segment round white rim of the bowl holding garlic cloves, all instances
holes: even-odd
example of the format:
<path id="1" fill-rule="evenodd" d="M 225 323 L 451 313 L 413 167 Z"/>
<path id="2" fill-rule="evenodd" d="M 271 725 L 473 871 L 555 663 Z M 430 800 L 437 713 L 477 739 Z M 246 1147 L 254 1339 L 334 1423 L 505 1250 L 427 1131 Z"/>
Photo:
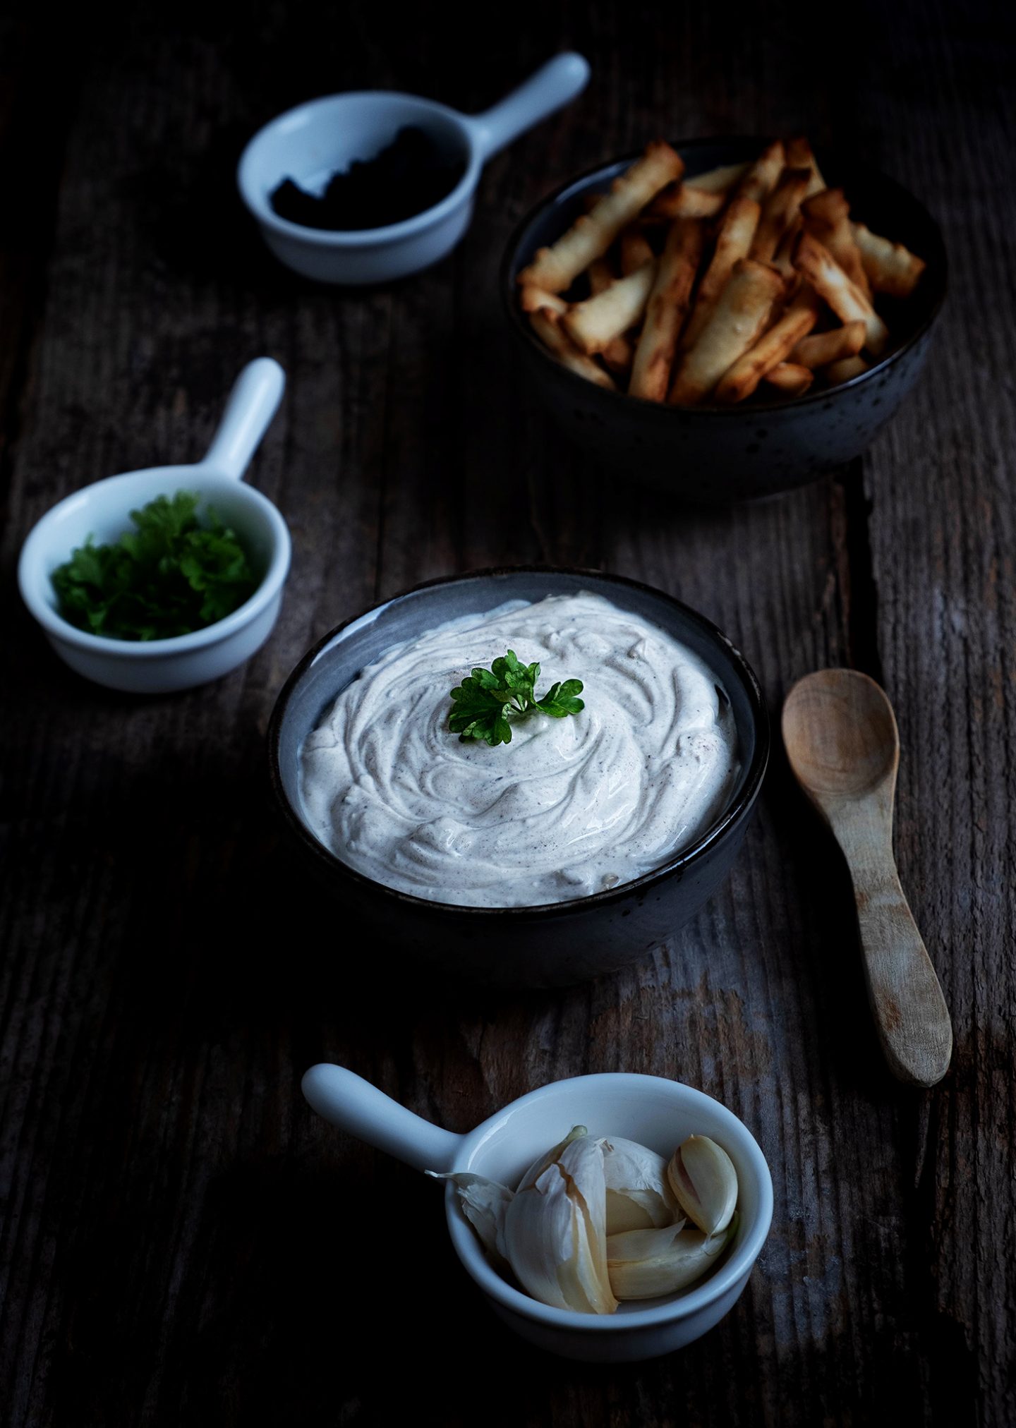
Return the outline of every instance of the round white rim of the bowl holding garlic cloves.
<path id="1" fill-rule="evenodd" d="M 723 1104 L 723 1101 L 709 1095 L 706 1091 L 700 1091 L 697 1087 L 687 1085 L 684 1081 L 672 1080 L 670 1077 L 646 1075 L 636 1071 L 594 1071 L 587 1075 L 564 1077 L 560 1081 L 549 1081 L 546 1085 L 537 1087 L 526 1095 L 520 1095 L 516 1101 L 510 1101 L 499 1112 L 483 1121 L 482 1125 L 477 1125 L 474 1131 L 469 1132 L 464 1137 L 464 1158 L 472 1162 L 476 1151 L 486 1138 L 486 1134 L 494 1128 L 496 1122 L 507 1111 L 514 1111 L 517 1107 L 526 1105 L 527 1102 L 532 1104 L 544 1100 L 556 1087 L 584 1082 L 589 1091 L 594 1092 L 597 1084 L 612 1081 L 616 1077 L 622 1077 L 624 1081 L 630 1082 L 633 1090 L 637 1087 L 637 1082 L 664 1082 L 672 1088 L 674 1100 L 684 1104 L 689 1101 L 693 1105 L 702 1101 L 710 1102 L 712 1114 L 717 1114 L 719 1111 L 720 1118 L 730 1127 L 732 1138 L 736 1138 L 737 1141 L 737 1150 L 743 1152 L 752 1165 L 759 1188 L 759 1210 L 752 1225 L 744 1232 L 743 1242 L 734 1244 L 730 1252 L 726 1254 L 723 1264 L 720 1264 L 700 1285 L 690 1288 L 689 1292 L 680 1299 L 670 1299 L 666 1304 L 656 1304 L 646 1309 L 629 1309 L 620 1317 L 614 1314 L 579 1314 L 573 1309 L 557 1309 L 553 1305 L 542 1304 L 539 1299 L 526 1294 L 524 1289 L 514 1288 L 514 1285 L 509 1284 L 509 1281 L 493 1268 L 484 1257 L 473 1230 L 469 1227 L 469 1222 L 457 1207 L 454 1185 L 447 1181 L 444 1214 L 449 1227 L 449 1237 L 466 1272 L 486 1295 L 497 1299 L 497 1302 L 506 1309 L 510 1309 L 523 1318 L 533 1319 L 549 1329 L 563 1329 L 570 1332 L 579 1331 L 584 1334 L 624 1334 L 690 1318 L 702 1309 L 709 1308 L 716 1302 L 716 1299 L 722 1298 L 730 1288 L 733 1288 L 742 1277 L 750 1274 L 772 1227 L 773 1177 L 769 1168 L 769 1161 L 766 1160 L 762 1147 L 756 1141 L 752 1131 L 747 1125 L 744 1125 L 742 1118 L 730 1110 L 730 1107 Z"/>

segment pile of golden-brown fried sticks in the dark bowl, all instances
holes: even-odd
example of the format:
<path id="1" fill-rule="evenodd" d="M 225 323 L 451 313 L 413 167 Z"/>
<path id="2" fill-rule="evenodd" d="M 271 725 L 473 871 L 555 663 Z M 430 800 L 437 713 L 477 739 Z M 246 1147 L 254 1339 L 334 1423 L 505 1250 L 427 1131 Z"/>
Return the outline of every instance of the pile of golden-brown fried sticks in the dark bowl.
<path id="1" fill-rule="evenodd" d="M 875 297 L 925 270 L 850 217 L 806 139 L 684 177 L 649 144 L 519 274 L 533 331 L 563 366 L 672 406 L 800 397 L 867 371 L 889 344 Z"/>

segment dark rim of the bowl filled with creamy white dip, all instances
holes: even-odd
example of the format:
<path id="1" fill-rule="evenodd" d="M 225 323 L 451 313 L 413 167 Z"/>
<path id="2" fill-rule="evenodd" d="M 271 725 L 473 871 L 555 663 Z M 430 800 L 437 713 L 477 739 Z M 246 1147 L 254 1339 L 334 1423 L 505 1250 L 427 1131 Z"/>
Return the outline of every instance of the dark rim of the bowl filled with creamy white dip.
<path id="1" fill-rule="evenodd" d="M 367 617 L 377 617 L 389 605 L 397 601 L 412 600 L 413 595 L 424 590 L 432 590 L 436 585 L 452 585 L 464 581 L 483 581 L 500 575 L 517 575 L 517 574 L 533 574 L 533 575 L 572 575 L 572 577 L 587 577 L 589 580 L 606 581 L 609 585 L 623 585 L 630 590 L 639 590 L 646 594 L 654 595 L 669 601 L 676 605 L 679 611 L 687 617 L 716 644 L 719 644 L 727 654 L 733 668 L 736 670 L 742 687 L 749 700 L 749 708 L 752 714 L 752 723 L 754 727 L 754 751 L 747 768 L 743 773 L 739 788 L 732 795 L 730 801 L 724 807 L 723 813 L 719 814 L 713 823 L 683 851 L 670 857 L 666 863 L 660 864 L 657 868 L 650 868 L 649 873 L 640 874 L 637 878 L 632 878 L 627 883 L 620 883 L 616 887 L 604 888 L 600 892 L 587 892 L 583 897 L 567 898 L 562 902 L 534 902 L 527 905 L 516 907 L 474 907 L 463 902 L 440 902 L 434 898 L 417 897 L 413 892 L 404 892 L 402 888 L 389 887 L 386 883 L 379 883 L 376 878 L 367 877 L 360 873 L 359 868 L 352 867 L 344 863 L 337 854 L 332 853 L 303 823 L 299 817 L 290 800 L 286 794 L 286 788 L 282 778 L 282 763 L 280 763 L 280 747 L 282 747 L 282 728 L 286 718 L 286 711 L 289 708 L 290 700 L 297 690 L 297 685 L 303 680 L 304 674 L 316 663 L 322 651 L 337 640 L 350 625 L 366 620 Z M 717 674 L 716 670 L 712 670 Z M 342 691 L 336 690 L 332 698 L 334 700 Z M 272 783 L 272 791 L 274 794 L 276 803 L 283 814 L 283 820 L 290 830 L 296 834 L 299 843 L 314 855 L 320 865 L 327 867 L 332 871 L 339 871 L 353 881 L 354 885 L 380 892 L 396 902 L 413 908 L 423 914 L 437 915 L 463 915 L 472 917 L 474 920 L 484 918 L 500 918 L 510 917 L 513 921 L 543 921 L 547 917 L 572 917 L 587 911 L 594 907 L 606 907 L 613 902 L 623 901 L 632 895 L 636 890 L 647 890 L 656 887 L 664 878 L 672 877 L 674 873 L 682 873 L 684 868 L 694 863 L 699 863 L 702 857 L 713 850 L 713 847 L 720 843 L 720 840 L 737 827 L 750 813 L 754 800 L 762 787 L 762 780 L 766 774 L 766 767 L 769 764 L 769 753 L 772 744 L 772 731 L 769 721 L 769 710 L 759 684 L 759 678 L 747 663 L 740 650 L 733 644 L 723 631 L 707 620 L 706 615 L 693 610 L 692 605 L 686 605 L 676 595 L 667 594 L 664 590 L 659 590 L 656 585 L 649 585 L 646 581 L 633 580 L 630 575 L 614 575 L 602 570 L 589 570 L 582 565 L 539 565 L 539 564 L 522 564 L 522 565 L 493 565 L 482 570 L 466 570 L 456 575 L 437 575 L 433 580 L 423 580 L 409 590 L 397 591 L 387 600 L 382 600 L 374 605 L 367 607 L 367 610 L 352 615 L 349 620 L 343 620 L 333 630 L 329 630 L 320 640 L 312 645 L 310 650 L 303 655 L 303 658 L 292 670 L 289 678 L 283 684 L 279 695 L 276 698 L 274 707 L 272 710 L 272 717 L 269 720 L 269 777 Z"/>

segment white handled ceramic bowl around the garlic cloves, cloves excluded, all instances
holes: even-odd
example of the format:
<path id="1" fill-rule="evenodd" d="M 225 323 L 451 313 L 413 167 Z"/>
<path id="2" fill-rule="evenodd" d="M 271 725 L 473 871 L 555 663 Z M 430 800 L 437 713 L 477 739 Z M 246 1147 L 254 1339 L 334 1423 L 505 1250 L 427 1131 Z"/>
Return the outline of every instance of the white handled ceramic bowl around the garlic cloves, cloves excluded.
<path id="1" fill-rule="evenodd" d="M 700 1338 L 740 1297 L 769 1234 L 773 1182 L 754 1137 L 733 1111 L 679 1081 L 624 1071 L 552 1081 L 467 1135 L 432 1125 L 344 1067 L 312 1067 L 303 1094 L 333 1125 L 414 1170 L 473 1171 L 512 1187 L 573 1125 L 586 1125 L 592 1135 L 623 1135 L 667 1158 L 689 1135 L 709 1135 L 723 1147 L 737 1171 L 740 1221 L 719 1267 L 687 1289 L 626 1302 L 609 1315 L 554 1309 L 509 1284 L 487 1261 L 454 1187 L 446 1185 L 452 1244 L 494 1314 L 530 1344 L 564 1358 L 627 1362 Z"/>

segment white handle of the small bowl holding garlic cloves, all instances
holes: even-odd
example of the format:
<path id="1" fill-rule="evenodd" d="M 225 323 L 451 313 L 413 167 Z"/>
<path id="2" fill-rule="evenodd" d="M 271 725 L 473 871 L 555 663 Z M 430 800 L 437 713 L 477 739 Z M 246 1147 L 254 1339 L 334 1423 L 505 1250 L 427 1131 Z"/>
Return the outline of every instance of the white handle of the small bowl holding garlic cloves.
<path id="1" fill-rule="evenodd" d="M 312 1067 L 303 1094 L 326 1121 L 413 1170 L 454 1170 L 464 1137 L 414 1115 L 346 1067 L 326 1061 Z"/>

